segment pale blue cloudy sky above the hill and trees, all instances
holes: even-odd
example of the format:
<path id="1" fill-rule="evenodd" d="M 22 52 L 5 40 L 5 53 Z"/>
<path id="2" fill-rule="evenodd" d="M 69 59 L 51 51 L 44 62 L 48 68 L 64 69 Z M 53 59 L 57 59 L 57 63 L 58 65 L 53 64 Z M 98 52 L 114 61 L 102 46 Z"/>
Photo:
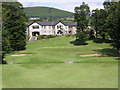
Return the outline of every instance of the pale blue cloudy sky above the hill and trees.
<path id="1" fill-rule="evenodd" d="M 82 2 L 89 5 L 90 10 L 102 9 L 104 0 L 18 0 L 24 7 L 46 6 L 74 12 L 74 7 Z"/>

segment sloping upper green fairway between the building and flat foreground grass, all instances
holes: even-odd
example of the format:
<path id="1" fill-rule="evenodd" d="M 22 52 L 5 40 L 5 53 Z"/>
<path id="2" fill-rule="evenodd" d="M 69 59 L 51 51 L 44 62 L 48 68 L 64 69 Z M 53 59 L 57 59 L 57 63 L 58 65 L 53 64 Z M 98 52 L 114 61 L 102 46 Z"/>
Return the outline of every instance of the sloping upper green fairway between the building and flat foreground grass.
<path id="1" fill-rule="evenodd" d="M 8 55 L 6 61 L 17 64 L 39 64 L 39 63 L 64 63 L 64 61 L 81 62 L 116 62 L 114 57 L 80 57 L 80 55 L 98 53 L 94 50 L 110 48 L 109 44 L 96 44 L 88 41 L 88 45 L 75 46 L 70 44 L 73 37 L 62 37 L 48 40 L 29 42 L 27 50 L 15 54 L 32 54 L 32 56 L 11 57 Z"/>

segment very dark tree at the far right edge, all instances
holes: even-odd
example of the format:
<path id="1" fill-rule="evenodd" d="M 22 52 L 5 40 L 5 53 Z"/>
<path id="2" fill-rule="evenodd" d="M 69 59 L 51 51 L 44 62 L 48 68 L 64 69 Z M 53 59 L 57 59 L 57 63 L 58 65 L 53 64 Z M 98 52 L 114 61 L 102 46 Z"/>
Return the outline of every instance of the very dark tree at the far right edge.
<path id="1" fill-rule="evenodd" d="M 109 2 L 109 7 L 105 8 L 109 15 L 106 19 L 108 34 L 112 39 L 112 46 L 118 51 L 120 56 L 120 2 Z M 107 6 L 104 3 L 105 6 Z"/>

